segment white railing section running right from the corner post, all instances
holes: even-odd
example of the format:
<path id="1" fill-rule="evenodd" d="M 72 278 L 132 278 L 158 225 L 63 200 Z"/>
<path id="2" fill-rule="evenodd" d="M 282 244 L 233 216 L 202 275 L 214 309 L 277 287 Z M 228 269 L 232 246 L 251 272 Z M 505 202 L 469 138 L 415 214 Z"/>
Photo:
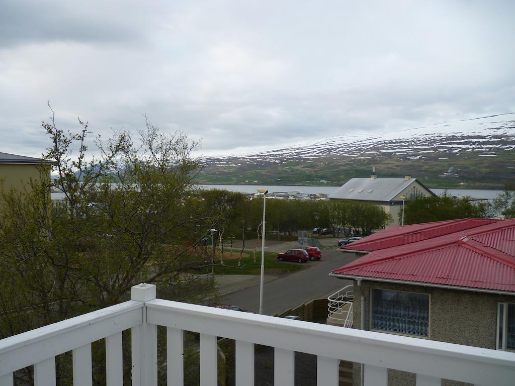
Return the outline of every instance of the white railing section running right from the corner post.
<path id="1" fill-rule="evenodd" d="M 364 363 L 365 385 L 386 385 L 387 369 L 416 373 L 417 384 L 423 385 L 440 385 L 442 378 L 481 385 L 511 385 L 515 379 L 513 353 L 338 326 L 315 327 L 310 322 L 161 299 L 149 301 L 146 306 L 147 322 L 166 326 L 169 336 L 178 337 L 182 330 L 200 333 L 201 384 L 202 372 L 216 379 L 216 337 L 236 340 L 236 379 L 239 372 L 246 382 L 251 380 L 242 372 L 253 369 L 252 344 L 275 347 L 276 384 L 289 386 L 294 384 L 296 351 L 318 356 L 320 385 L 337 384 L 339 359 Z M 246 354 L 239 356 L 238 347 Z M 207 353 L 202 354 L 203 349 Z M 178 352 L 169 355 L 179 360 Z M 277 383 L 277 379 L 281 381 Z M 253 384 L 253 380 L 239 384 Z"/>

